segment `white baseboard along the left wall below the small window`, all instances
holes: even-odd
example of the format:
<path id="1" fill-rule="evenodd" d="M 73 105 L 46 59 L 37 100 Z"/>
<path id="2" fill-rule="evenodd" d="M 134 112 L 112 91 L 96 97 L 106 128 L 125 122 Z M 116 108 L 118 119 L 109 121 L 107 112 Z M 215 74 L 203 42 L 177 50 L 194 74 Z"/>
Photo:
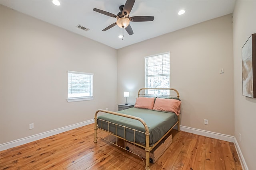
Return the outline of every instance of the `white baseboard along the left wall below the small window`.
<path id="1" fill-rule="evenodd" d="M 8 142 L 8 143 L 3 143 L 3 144 L 0 144 L 0 151 L 10 149 L 10 148 L 13 148 L 13 147 L 17 147 L 17 146 L 20 146 L 20 145 L 24 145 L 26 143 L 37 141 L 39 139 L 50 137 L 52 135 L 56 135 L 56 134 L 59 134 L 59 133 L 62 133 L 62 132 L 70 131 L 72 129 L 76 129 L 78 127 L 82 127 L 82 126 L 89 125 L 89 124 L 92 124 L 92 123 L 94 123 L 94 119 L 91 119 L 91 120 L 88 120 L 88 121 L 83 121 L 83 122 L 76 123 L 74 125 L 69 125 L 69 126 L 66 126 L 66 127 L 61 127 L 61 128 L 58 128 L 58 129 L 54 129 L 52 131 L 39 133 L 39 134 L 32 135 L 32 136 L 29 136 L 29 137 L 24 137 L 22 139 L 17 139 L 15 141 L 11 141 L 11 142 Z"/>

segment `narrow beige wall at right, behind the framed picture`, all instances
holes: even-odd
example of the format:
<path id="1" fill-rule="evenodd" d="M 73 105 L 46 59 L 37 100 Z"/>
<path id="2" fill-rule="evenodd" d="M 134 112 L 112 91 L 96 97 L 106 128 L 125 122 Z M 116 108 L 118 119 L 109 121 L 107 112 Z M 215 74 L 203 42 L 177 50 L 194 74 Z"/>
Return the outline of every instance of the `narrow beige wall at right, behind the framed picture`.
<path id="1" fill-rule="evenodd" d="M 233 18 L 234 39 L 234 136 L 242 150 L 249 170 L 256 167 L 256 99 L 242 96 L 241 49 L 252 33 L 256 33 L 256 1 L 236 1 Z M 239 140 L 241 134 L 241 141 Z"/>

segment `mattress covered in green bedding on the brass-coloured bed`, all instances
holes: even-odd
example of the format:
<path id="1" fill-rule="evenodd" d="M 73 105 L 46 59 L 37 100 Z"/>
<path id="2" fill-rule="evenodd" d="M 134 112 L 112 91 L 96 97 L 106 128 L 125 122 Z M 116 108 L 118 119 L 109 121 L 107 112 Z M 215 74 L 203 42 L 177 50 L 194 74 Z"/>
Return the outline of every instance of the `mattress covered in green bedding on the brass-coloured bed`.
<path id="1" fill-rule="evenodd" d="M 154 145 L 154 143 L 156 143 L 178 121 L 178 116 L 175 113 L 151 109 L 132 107 L 118 111 L 118 113 L 142 118 L 148 125 L 150 145 Z M 105 121 L 101 121 L 100 119 Z M 124 138 L 124 127 L 117 126 L 116 128 L 116 125 L 106 121 L 145 132 L 143 124 L 138 120 L 112 114 L 98 116 L 98 127 L 110 131 L 113 134 L 117 133 L 117 135 L 122 138 Z M 135 132 L 135 142 L 145 145 L 145 134 L 138 131 Z M 125 139 L 134 142 L 134 131 L 126 128 Z"/>

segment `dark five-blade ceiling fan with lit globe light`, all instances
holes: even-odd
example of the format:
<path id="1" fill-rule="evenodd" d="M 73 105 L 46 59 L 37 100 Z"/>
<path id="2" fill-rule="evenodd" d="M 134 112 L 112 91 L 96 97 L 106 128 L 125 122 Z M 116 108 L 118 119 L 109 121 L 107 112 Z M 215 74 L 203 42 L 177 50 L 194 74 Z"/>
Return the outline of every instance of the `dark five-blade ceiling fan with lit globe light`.
<path id="1" fill-rule="evenodd" d="M 135 0 L 126 0 L 126 3 L 124 5 L 119 6 L 120 12 L 118 12 L 117 15 L 111 14 L 110 12 L 106 12 L 103 10 L 99 10 L 97 8 L 93 8 L 94 11 L 99 12 L 100 14 L 104 14 L 106 16 L 110 16 L 113 18 L 116 18 L 117 21 L 115 23 L 112 23 L 108 27 L 104 28 L 102 31 L 106 31 L 115 25 L 118 25 L 120 28 L 125 28 L 129 35 L 133 34 L 132 27 L 129 24 L 130 21 L 132 22 L 142 22 L 142 21 L 153 21 L 154 16 L 134 16 L 130 17 L 130 12 L 132 10 L 132 7 L 134 5 Z"/>

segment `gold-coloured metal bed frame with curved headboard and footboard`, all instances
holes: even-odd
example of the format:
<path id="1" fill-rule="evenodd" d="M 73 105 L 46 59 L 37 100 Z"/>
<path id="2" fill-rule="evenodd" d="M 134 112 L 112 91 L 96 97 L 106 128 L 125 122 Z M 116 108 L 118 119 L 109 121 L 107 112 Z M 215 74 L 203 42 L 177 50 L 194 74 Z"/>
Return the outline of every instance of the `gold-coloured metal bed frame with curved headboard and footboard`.
<path id="1" fill-rule="evenodd" d="M 142 90 L 144 90 L 144 94 L 141 94 L 141 91 L 142 91 Z M 174 88 L 141 88 L 141 89 L 138 91 L 138 97 L 142 97 L 142 96 L 150 96 L 150 97 L 171 97 L 171 96 L 173 96 L 173 95 L 145 94 L 145 91 L 146 91 L 146 90 L 170 90 L 170 94 L 171 94 L 171 90 L 173 90 L 173 91 L 175 91 L 176 94 L 177 94 L 177 95 L 175 95 L 175 97 L 178 98 L 178 99 L 180 98 L 179 92 L 178 92 L 176 89 L 174 89 Z M 97 118 L 97 115 L 98 115 L 99 112 L 104 112 L 104 113 L 113 114 L 113 115 L 119 115 L 119 116 L 128 117 L 128 118 L 131 118 L 131 119 L 138 120 L 138 121 L 140 121 L 140 122 L 142 123 L 142 125 L 144 126 L 145 132 L 141 132 L 141 131 L 138 131 L 138 130 L 136 130 L 136 129 L 132 129 L 132 130 L 134 131 L 134 141 L 133 141 L 133 142 L 132 142 L 132 141 L 128 141 L 128 140 L 125 139 L 125 138 L 126 138 L 125 132 L 126 132 L 126 129 L 131 129 L 131 128 L 125 127 L 125 126 L 122 126 L 122 125 L 118 125 L 118 124 L 116 124 L 116 123 L 112 123 L 112 122 L 109 122 L 109 121 L 105 121 L 105 120 L 102 120 L 102 119 L 98 119 L 98 118 Z M 101 123 L 103 123 L 103 121 L 107 122 L 107 123 L 108 123 L 108 130 L 105 130 L 105 129 L 100 128 L 100 127 L 97 125 L 97 120 L 100 120 Z M 115 126 L 116 126 L 116 129 L 117 129 L 117 126 L 123 127 L 123 128 L 124 128 L 124 138 L 123 138 L 123 137 L 120 137 L 120 136 L 118 136 L 118 135 L 116 135 L 117 133 L 114 134 L 114 133 L 110 132 L 110 131 L 109 131 L 109 125 L 110 125 L 110 124 L 115 125 Z M 105 141 L 108 141 L 108 142 L 110 142 L 110 143 L 112 143 L 112 144 L 114 144 L 114 145 L 116 145 L 116 146 L 118 146 L 118 147 L 121 147 L 121 146 L 117 145 L 117 139 L 118 139 L 118 138 L 119 138 L 119 139 L 123 139 L 123 140 L 124 140 L 124 147 L 121 147 L 121 148 L 124 149 L 124 150 L 128 150 L 128 149 L 126 148 L 126 142 L 129 142 L 129 143 L 134 144 L 134 152 L 132 152 L 133 154 L 136 154 L 136 152 L 135 152 L 135 146 L 142 147 L 142 148 L 145 149 L 145 152 L 146 152 L 146 167 L 145 167 L 145 169 L 146 169 L 146 170 L 150 170 L 150 156 L 149 156 L 150 151 L 151 151 L 154 147 L 156 147 L 156 145 L 157 145 L 158 143 L 160 143 L 160 141 L 162 141 L 162 139 L 164 139 L 164 137 L 165 137 L 166 135 L 168 135 L 168 133 L 170 133 L 170 131 L 171 131 L 176 125 L 178 125 L 178 131 L 180 131 L 180 116 L 179 116 L 179 115 L 178 115 L 178 121 L 164 134 L 164 136 L 162 136 L 161 139 L 159 139 L 156 143 L 154 143 L 153 146 L 150 146 L 150 145 L 149 145 L 149 129 L 148 129 L 148 126 L 147 126 L 146 122 L 145 122 L 143 119 L 141 119 L 140 117 L 132 116 L 132 115 L 126 115 L 126 114 L 122 114 L 122 113 L 118 113 L 118 112 L 114 112 L 114 111 L 108 111 L 108 110 L 99 109 L 99 110 L 96 111 L 96 113 L 95 113 L 95 115 L 94 115 L 94 143 L 97 143 L 97 139 L 98 139 L 98 137 L 97 137 L 97 130 L 100 129 L 100 130 L 101 130 L 101 134 L 102 134 L 103 131 L 105 131 L 105 132 L 107 132 L 108 134 L 113 135 L 114 137 L 116 137 L 116 142 L 113 143 L 112 141 L 109 140 L 109 138 L 108 138 L 108 139 L 103 138 L 102 135 L 101 135 L 101 137 L 99 137 L 99 138 L 101 138 L 101 139 L 103 139 L 103 140 L 105 140 Z M 102 127 L 102 126 L 101 126 L 101 127 Z M 116 132 L 117 132 L 117 130 L 116 130 Z M 140 132 L 140 133 L 144 133 L 144 134 L 145 134 L 145 137 L 146 137 L 146 145 L 145 145 L 145 146 L 144 146 L 144 145 L 141 145 L 140 143 L 136 143 L 136 141 L 135 141 L 135 132 Z M 128 150 L 128 151 L 131 152 L 130 150 Z M 140 155 L 138 155 L 138 154 L 136 154 L 136 155 L 139 156 L 139 157 L 142 159 L 142 161 L 144 162 L 143 158 L 142 158 Z"/>

